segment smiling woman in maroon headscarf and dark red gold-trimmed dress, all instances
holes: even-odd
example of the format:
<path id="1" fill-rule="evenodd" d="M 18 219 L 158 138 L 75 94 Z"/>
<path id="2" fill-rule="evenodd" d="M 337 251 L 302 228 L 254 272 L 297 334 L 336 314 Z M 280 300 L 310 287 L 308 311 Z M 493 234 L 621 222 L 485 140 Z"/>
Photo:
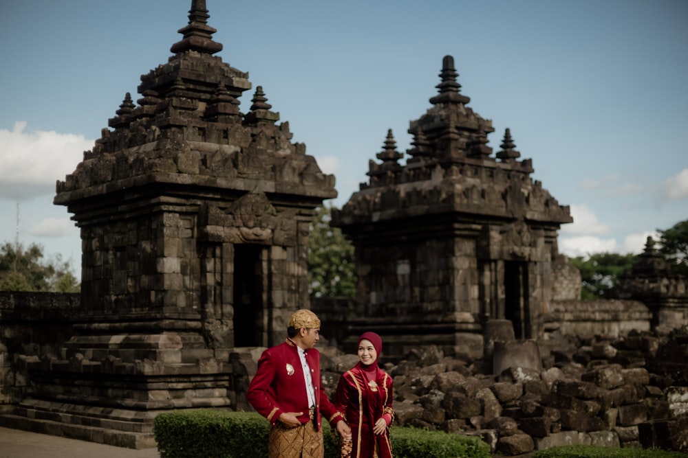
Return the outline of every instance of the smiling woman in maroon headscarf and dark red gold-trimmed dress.
<path id="1" fill-rule="evenodd" d="M 391 458 L 389 425 L 394 420 L 391 408 L 391 377 L 378 367 L 383 339 L 374 332 L 358 338 L 358 363 L 339 378 L 334 405 L 351 427 L 352 440 L 344 439 L 342 456 L 352 458 Z M 347 449 L 351 454 L 347 455 Z"/>

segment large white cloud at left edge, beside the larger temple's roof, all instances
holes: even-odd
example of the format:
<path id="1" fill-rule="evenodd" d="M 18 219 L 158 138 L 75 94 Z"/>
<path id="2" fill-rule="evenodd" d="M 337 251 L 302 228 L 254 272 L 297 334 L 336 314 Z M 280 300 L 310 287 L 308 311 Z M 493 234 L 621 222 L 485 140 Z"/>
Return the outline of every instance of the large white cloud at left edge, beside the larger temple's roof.
<path id="1" fill-rule="evenodd" d="M 0 198 L 24 201 L 54 193 L 55 182 L 74 172 L 94 145 L 83 135 L 25 128 L 20 121 L 11 131 L 0 129 Z"/>

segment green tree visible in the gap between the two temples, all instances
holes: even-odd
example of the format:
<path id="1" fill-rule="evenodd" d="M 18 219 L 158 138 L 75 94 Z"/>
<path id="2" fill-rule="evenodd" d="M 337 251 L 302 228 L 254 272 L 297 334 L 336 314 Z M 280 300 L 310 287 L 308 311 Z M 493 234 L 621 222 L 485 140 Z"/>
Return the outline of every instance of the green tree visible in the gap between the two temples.
<path id="1" fill-rule="evenodd" d="M 308 238 L 308 284 L 315 297 L 356 297 L 354 246 L 330 227 L 332 207 L 320 207 Z"/>

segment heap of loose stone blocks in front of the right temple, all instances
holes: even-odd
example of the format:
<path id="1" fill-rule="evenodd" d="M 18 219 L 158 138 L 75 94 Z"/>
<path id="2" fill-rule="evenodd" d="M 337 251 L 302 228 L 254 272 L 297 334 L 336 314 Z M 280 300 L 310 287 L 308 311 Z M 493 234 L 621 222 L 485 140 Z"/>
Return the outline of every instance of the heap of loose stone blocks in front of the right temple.
<path id="1" fill-rule="evenodd" d="M 542 371 L 509 367 L 496 375 L 481 360 L 424 347 L 387 365 L 394 376 L 395 421 L 477 435 L 503 455 L 563 444 L 688 450 L 688 383 L 676 378 L 676 368 L 672 375 L 646 367 L 667 346 L 681 347 L 687 360 L 682 339 L 631 333 L 582 341 L 575 352 L 547 355 Z M 338 374 L 356 358 L 324 361 L 332 393 Z"/>

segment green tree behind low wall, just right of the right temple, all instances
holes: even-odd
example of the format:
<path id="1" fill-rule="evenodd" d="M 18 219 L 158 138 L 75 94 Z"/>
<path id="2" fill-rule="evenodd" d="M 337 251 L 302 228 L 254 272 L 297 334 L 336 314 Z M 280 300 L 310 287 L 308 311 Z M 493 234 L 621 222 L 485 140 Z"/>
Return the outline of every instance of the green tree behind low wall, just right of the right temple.
<path id="1" fill-rule="evenodd" d="M 571 264 L 581 271 L 583 280 L 582 299 L 603 299 L 626 269 L 631 268 L 636 255 L 619 253 L 594 253 L 588 259 L 582 256 L 570 258 Z"/>

